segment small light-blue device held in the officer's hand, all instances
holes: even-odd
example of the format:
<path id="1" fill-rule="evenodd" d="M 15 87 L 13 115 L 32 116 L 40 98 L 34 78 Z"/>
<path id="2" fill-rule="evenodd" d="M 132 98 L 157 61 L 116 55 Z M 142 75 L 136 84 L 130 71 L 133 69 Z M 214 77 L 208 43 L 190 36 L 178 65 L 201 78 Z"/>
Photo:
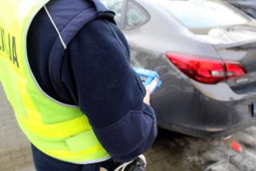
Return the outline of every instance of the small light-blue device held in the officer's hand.
<path id="1" fill-rule="evenodd" d="M 143 85 L 145 87 L 150 87 L 151 93 L 162 85 L 162 82 L 159 80 L 158 72 L 136 67 L 134 67 L 134 71 L 138 74 L 139 78 L 141 78 Z"/>

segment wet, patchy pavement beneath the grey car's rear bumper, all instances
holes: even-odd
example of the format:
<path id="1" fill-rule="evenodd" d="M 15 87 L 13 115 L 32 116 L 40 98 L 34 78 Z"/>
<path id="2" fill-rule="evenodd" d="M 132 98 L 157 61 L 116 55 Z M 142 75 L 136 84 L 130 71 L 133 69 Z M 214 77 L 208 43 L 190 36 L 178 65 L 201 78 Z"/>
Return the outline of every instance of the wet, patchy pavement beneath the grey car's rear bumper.
<path id="1" fill-rule="evenodd" d="M 242 146 L 242 153 L 230 148 L 222 138 L 199 139 L 159 130 L 153 147 L 146 153 L 148 171 L 254 171 L 256 170 L 256 127 L 231 137 Z"/>

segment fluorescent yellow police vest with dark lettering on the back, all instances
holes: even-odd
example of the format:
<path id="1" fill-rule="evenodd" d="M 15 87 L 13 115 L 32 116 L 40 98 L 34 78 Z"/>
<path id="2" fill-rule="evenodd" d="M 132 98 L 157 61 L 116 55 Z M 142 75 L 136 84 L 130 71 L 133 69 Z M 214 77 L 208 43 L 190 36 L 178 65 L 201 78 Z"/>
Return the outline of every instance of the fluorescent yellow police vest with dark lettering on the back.
<path id="1" fill-rule="evenodd" d="M 42 152 L 62 161 L 94 163 L 110 158 L 78 107 L 54 101 L 34 81 L 26 37 L 49 0 L 0 0 L 0 81 L 18 125 Z"/>

